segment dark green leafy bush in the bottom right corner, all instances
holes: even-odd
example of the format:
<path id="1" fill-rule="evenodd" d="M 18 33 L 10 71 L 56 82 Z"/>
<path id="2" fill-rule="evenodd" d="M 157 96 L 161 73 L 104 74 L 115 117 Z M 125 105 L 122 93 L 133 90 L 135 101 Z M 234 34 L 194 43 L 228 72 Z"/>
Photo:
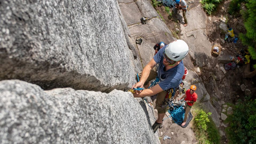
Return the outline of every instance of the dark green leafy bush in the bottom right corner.
<path id="1" fill-rule="evenodd" d="M 227 118 L 230 127 L 227 128 L 231 143 L 256 143 L 256 99 L 246 97 L 239 101 L 233 110 L 233 115 Z"/>

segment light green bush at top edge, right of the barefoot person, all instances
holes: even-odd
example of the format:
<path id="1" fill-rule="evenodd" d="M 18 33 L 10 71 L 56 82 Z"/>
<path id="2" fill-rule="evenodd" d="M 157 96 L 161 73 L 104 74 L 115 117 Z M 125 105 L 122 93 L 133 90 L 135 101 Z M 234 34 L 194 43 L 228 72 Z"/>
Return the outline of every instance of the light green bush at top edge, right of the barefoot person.
<path id="1" fill-rule="evenodd" d="M 217 5 L 221 2 L 222 0 L 202 0 L 200 3 L 202 4 L 203 9 L 205 9 L 206 13 L 211 15 L 211 12 L 215 10 Z"/>

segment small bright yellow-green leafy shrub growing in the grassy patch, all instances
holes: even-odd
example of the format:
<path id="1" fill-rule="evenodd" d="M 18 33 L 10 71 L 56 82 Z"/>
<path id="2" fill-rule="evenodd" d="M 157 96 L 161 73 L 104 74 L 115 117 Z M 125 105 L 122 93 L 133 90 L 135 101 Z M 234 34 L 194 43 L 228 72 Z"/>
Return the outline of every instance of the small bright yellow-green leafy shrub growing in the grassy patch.
<path id="1" fill-rule="evenodd" d="M 195 123 L 198 129 L 201 129 L 201 131 L 206 130 L 207 125 L 206 122 L 210 122 L 208 115 L 211 115 L 211 113 L 205 113 L 202 109 L 196 111 L 197 115 L 195 116 Z"/>

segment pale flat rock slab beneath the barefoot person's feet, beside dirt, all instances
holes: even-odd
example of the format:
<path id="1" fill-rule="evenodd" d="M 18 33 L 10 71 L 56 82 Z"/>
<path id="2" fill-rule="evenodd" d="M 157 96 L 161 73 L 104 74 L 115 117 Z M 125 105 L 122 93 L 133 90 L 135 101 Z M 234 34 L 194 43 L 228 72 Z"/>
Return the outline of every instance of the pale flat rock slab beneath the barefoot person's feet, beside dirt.
<path id="1" fill-rule="evenodd" d="M 195 60 L 196 64 L 203 67 L 210 62 L 212 44 L 206 35 L 207 16 L 199 3 L 195 3 L 195 5 L 197 6 L 190 7 L 186 14 L 189 26 L 184 27 L 184 22 L 181 22 L 181 34 L 183 34 L 181 39 L 189 45 L 189 55 Z M 179 15 L 179 18 L 183 18 L 182 11 Z"/>

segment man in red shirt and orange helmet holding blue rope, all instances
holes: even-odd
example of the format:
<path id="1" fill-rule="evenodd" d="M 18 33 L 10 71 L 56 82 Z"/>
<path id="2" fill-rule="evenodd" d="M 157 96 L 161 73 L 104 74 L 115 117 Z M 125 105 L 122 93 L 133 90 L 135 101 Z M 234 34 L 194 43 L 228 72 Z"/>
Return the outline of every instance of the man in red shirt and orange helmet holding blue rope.
<path id="1" fill-rule="evenodd" d="M 184 121 L 181 124 L 182 126 L 186 124 L 189 111 L 191 107 L 194 105 L 194 103 L 197 101 L 197 94 L 195 93 L 196 89 L 197 87 L 195 85 L 192 85 L 190 89 L 186 91 L 186 94 L 184 94 L 181 98 L 178 99 L 178 101 L 180 101 L 181 99 L 185 98 L 185 101 L 186 101 L 185 116 L 184 116 Z"/>

